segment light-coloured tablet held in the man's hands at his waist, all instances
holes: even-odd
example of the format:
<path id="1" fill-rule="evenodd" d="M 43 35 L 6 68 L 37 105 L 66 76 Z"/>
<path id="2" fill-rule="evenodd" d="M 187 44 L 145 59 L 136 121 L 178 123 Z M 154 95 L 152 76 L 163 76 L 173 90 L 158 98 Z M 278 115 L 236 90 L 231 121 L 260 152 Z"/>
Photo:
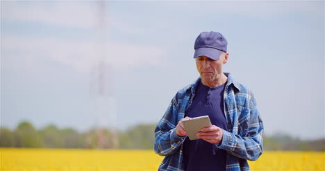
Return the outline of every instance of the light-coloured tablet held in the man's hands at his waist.
<path id="1" fill-rule="evenodd" d="M 195 118 L 186 118 L 182 120 L 186 132 L 188 132 L 188 138 L 190 140 L 197 140 L 196 134 L 203 127 L 212 126 L 209 116 L 199 116 Z"/>

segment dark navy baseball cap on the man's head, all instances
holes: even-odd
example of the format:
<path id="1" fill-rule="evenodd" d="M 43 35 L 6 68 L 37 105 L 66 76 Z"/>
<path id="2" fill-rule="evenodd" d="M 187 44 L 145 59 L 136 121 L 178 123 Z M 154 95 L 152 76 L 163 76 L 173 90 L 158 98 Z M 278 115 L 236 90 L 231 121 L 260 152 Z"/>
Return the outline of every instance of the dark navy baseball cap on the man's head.
<path id="1" fill-rule="evenodd" d="M 206 56 L 210 59 L 217 60 L 222 52 L 227 52 L 227 40 L 218 32 L 202 32 L 194 44 L 194 58 Z"/>

